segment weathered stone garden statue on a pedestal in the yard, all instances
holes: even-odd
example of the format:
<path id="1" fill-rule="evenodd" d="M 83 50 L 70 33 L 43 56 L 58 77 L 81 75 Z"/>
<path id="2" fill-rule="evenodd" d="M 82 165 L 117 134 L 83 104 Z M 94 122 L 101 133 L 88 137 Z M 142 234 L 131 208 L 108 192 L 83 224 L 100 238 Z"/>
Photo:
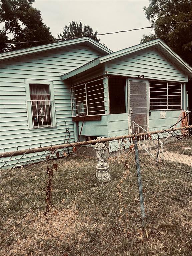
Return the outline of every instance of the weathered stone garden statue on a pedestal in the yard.
<path id="1" fill-rule="evenodd" d="M 102 140 L 104 138 L 97 137 L 97 140 Z M 109 165 L 106 162 L 108 157 L 107 155 L 107 147 L 105 142 L 98 142 L 95 144 L 96 155 L 98 159 L 98 163 L 96 165 L 96 178 L 102 182 L 108 182 L 111 180 L 111 175 L 109 173 Z"/>

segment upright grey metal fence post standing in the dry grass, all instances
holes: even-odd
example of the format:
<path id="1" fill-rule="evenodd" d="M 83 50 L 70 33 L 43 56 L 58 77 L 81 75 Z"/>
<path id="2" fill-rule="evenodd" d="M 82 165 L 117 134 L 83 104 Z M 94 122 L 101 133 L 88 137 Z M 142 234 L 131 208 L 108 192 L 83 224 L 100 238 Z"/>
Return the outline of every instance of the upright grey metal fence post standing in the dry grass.
<path id="1" fill-rule="evenodd" d="M 137 137 L 134 138 L 134 145 L 135 145 L 135 164 L 137 169 L 137 181 L 138 181 L 138 189 L 139 189 L 139 199 L 140 199 L 140 207 L 141 207 L 141 219 L 142 219 L 142 228 L 146 230 L 146 213 L 145 213 L 145 206 L 144 206 L 144 196 L 143 196 L 143 184 L 141 179 L 141 168 L 139 163 L 139 152 L 137 146 Z"/>

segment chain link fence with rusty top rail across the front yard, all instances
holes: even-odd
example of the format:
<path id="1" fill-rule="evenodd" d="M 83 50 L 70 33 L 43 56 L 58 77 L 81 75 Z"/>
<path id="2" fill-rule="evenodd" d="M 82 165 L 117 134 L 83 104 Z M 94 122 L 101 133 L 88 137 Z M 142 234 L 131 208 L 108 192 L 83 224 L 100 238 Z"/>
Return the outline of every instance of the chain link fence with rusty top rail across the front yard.
<path id="1" fill-rule="evenodd" d="M 192 255 L 191 126 L 0 160 L 1 255 Z"/>

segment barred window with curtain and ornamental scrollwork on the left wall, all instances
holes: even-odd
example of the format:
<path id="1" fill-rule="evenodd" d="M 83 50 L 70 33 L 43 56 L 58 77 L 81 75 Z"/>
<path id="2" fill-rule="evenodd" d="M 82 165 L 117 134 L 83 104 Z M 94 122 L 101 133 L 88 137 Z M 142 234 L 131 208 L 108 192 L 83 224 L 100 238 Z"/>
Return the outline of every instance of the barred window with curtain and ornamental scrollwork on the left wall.
<path id="1" fill-rule="evenodd" d="M 29 84 L 33 128 L 51 127 L 51 100 L 47 84 Z"/>

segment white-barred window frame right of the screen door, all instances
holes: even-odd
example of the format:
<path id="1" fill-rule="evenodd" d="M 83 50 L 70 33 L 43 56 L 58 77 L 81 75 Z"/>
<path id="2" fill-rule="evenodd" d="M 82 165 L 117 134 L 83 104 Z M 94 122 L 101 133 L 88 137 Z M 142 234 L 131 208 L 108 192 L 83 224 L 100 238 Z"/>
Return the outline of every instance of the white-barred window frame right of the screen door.
<path id="1" fill-rule="evenodd" d="M 166 97 L 167 97 L 167 101 L 166 101 L 166 108 L 162 108 L 162 109 L 151 109 L 151 95 L 150 95 L 150 82 L 158 82 L 158 83 L 166 83 Z M 180 92 L 181 92 L 181 104 L 180 104 L 180 108 L 168 108 L 169 107 L 169 100 L 168 100 L 168 93 L 169 93 L 169 91 L 168 91 L 168 84 L 169 83 L 175 83 L 175 84 L 178 84 L 178 85 L 180 85 Z M 175 81 L 161 81 L 161 80 L 150 80 L 149 79 L 149 111 L 172 111 L 172 110 L 182 110 L 182 104 L 183 104 L 183 102 L 182 102 L 182 90 L 183 90 L 183 88 L 182 88 L 182 82 L 175 82 Z M 154 98 L 155 99 L 155 98 Z M 178 104 L 177 104 L 178 105 Z"/>

